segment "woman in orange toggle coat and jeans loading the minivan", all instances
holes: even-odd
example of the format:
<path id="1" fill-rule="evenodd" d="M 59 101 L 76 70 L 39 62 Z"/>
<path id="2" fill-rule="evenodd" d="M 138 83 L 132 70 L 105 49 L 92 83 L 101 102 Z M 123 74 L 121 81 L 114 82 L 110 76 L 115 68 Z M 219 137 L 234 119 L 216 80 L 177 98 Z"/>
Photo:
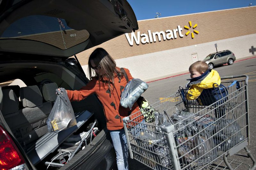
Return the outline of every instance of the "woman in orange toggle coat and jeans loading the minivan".
<path id="1" fill-rule="evenodd" d="M 139 111 L 139 106 L 135 102 L 132 110 L 120 105 L 120 96 L 127 83 L 124 73 L 116 67 L 116 62 L 102 48 L 95 49 L 89 57 L 88 69 L 90 82 L 80 90 L 67 90 L 70 101 L 80 101 L 95 93 L 100 99 L 106 121 L 107 128 L 116 151 L 116 163 L 119 170 L 128 169 L 128 146 L 124 133 L 122 119 L 131 113 Z M 95 76 L 94 72 L 95 72 Z M 129 70 L 124 68 L 128 79 L 132 79 Z M 92 74 L 93 73 L 93 74 Z"/>

